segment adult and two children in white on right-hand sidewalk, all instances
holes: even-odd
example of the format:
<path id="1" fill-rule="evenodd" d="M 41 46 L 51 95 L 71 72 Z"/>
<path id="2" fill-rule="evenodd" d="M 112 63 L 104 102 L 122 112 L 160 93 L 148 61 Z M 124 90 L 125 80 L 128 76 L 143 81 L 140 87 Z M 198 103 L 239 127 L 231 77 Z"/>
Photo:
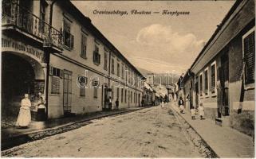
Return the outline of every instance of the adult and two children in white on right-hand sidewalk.
<path id="1" fill-rule="evenodd" d="M 181 114 L 184 113 L 184 100 L 182 97 L 179 97 L 179 101 L 178 101 L 178 105 L 179 105 L 179 111 Z M 195 107 L 191 107 L 191 119 L 195 120 L 195 112 L 199 112 L 199 116 L 200 119 L 203 120 L 203 116 L 204 116 L 204 108 L 203 108 L 203 103 L 199 104 L 198 109 L 195 109 Z"/>

